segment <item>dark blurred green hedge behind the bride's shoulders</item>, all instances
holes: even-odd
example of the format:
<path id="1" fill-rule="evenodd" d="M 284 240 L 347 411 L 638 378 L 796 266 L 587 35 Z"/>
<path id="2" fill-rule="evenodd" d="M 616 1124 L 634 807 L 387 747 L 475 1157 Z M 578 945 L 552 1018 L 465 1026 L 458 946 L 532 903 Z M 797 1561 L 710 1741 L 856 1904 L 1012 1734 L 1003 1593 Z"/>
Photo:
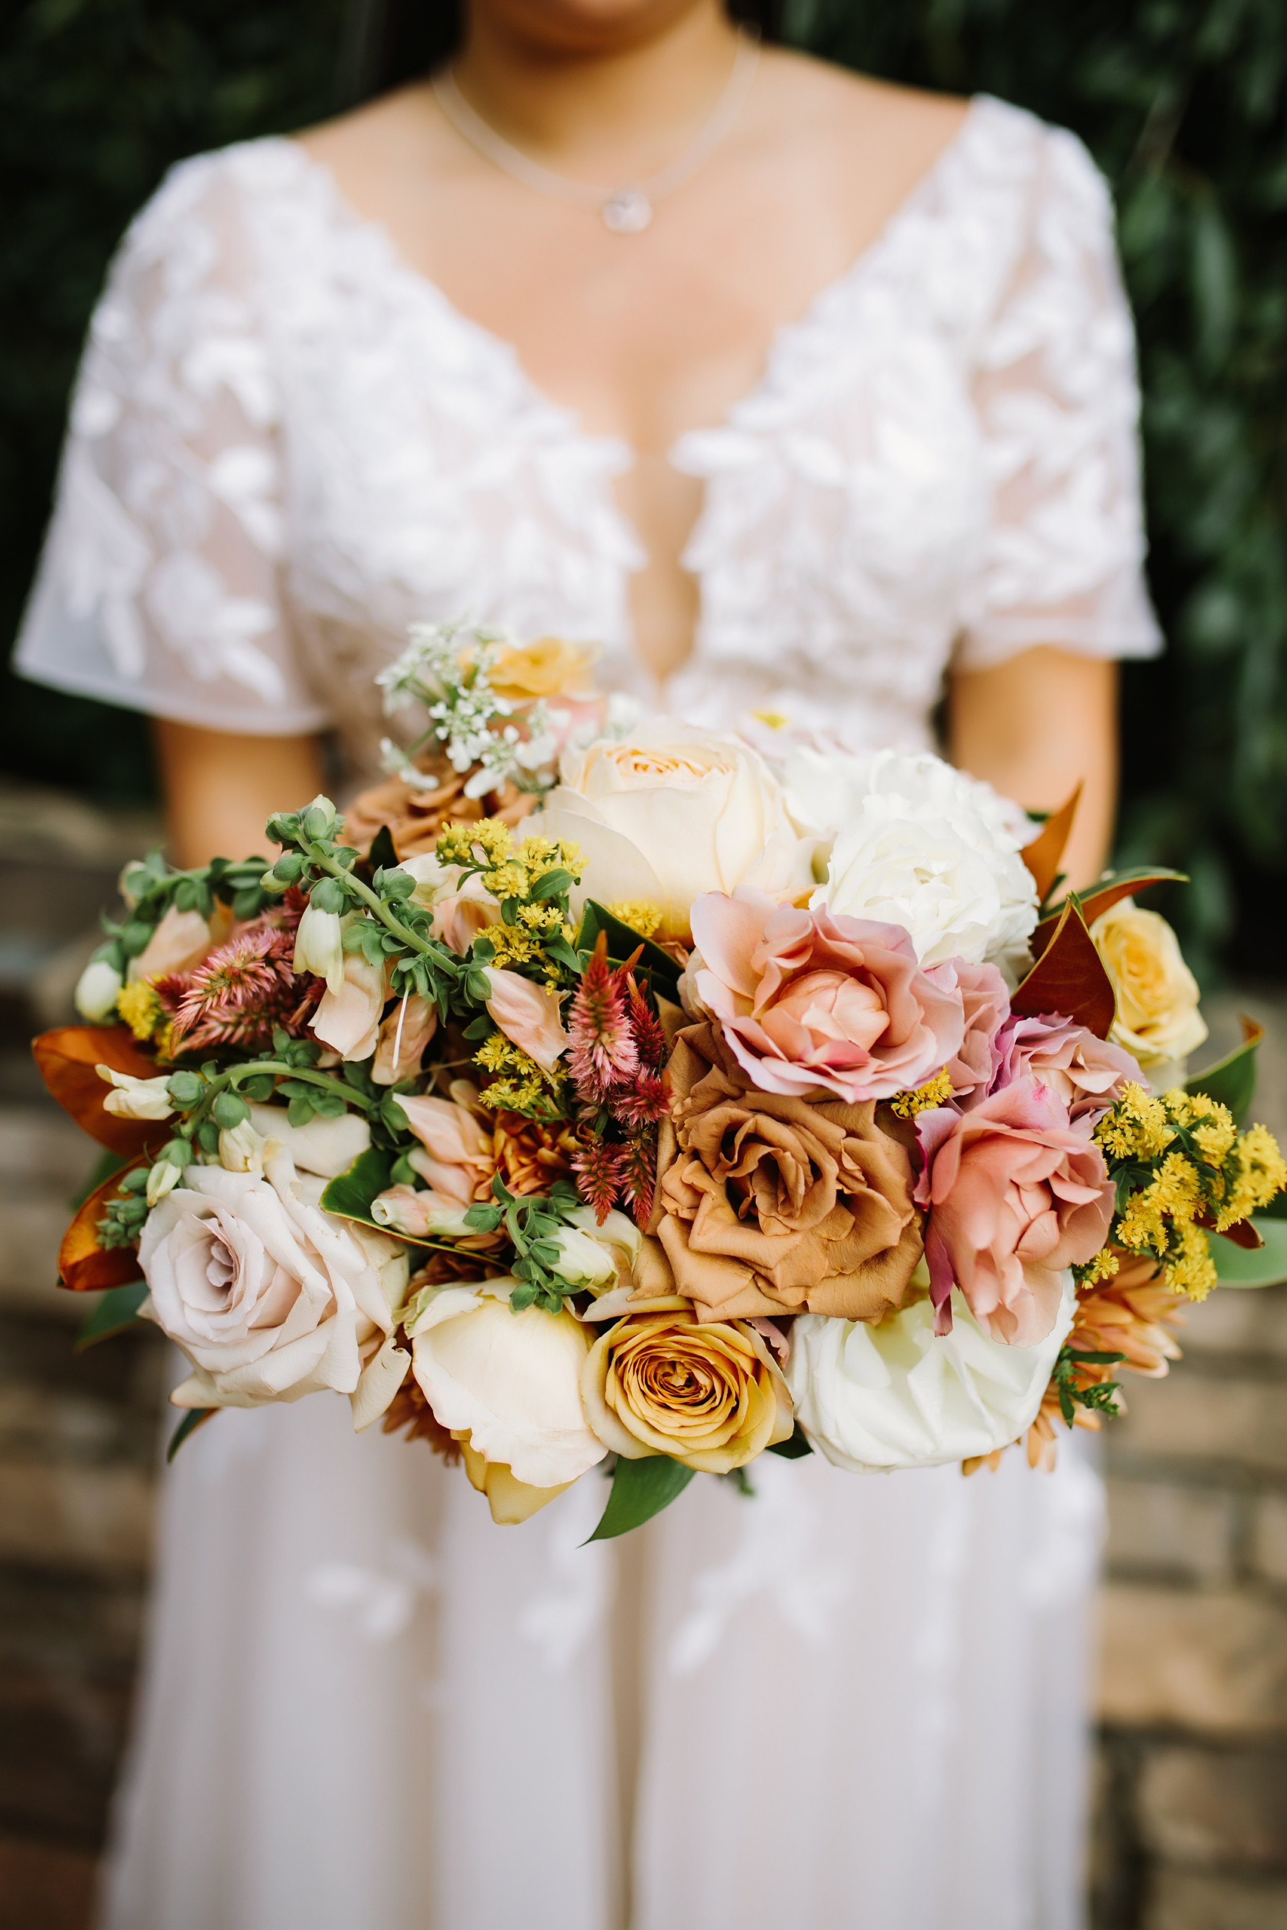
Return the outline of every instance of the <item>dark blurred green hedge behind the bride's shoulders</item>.
<path id="1" fill-rule="evenodd" d="M 1073 127 L 1108 174 L 1140 332 L 1150 575 L 1171 643 L 1133 666 L 1121 855 L 1212 973 L 1287 973 L 1287 6 L 787 0 L 787 37 Z M 10 0 L 0 21 L 0 625 L 35 565 L 110 251 L 181 154 L 318 120 L 361 46 L 345 0 Z M 8 679 L 4 770 L 139 799 L 147 730 Z"/>

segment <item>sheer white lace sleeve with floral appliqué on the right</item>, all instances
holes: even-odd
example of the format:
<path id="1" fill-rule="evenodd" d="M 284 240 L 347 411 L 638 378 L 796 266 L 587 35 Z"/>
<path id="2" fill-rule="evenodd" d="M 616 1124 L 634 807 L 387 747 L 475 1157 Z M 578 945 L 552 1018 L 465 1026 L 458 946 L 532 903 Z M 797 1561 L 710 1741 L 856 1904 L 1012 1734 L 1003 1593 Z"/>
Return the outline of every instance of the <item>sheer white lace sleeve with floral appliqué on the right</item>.
<path id="1" fill-rule="evenodd" d="M 1030 226 L 982 342 L 974 400 L 992 521 L 955 664 L 1038 643 L 1156 656 L 1144 587 L 1135 332 L 1108 187 L 1071 133 L 1042 129 Z"/>

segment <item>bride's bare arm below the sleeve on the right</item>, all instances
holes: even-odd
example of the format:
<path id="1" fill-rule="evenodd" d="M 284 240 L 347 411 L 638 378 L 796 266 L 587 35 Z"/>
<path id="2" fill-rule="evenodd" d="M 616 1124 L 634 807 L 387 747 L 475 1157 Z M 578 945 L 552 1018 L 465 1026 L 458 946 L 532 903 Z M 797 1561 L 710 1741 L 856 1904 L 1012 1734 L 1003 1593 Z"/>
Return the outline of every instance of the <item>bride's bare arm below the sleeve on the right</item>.
<path id="1" fill-rule="evenodd" d="M 947 712 L 953 764 L 1030 811 L 1055 811 L 1081 780 L 1063 870 L 1075 886 L 1092 884 L 1117 807 L 1117 666 L 1044 645 L 992 670 L 959 670 Z"/>

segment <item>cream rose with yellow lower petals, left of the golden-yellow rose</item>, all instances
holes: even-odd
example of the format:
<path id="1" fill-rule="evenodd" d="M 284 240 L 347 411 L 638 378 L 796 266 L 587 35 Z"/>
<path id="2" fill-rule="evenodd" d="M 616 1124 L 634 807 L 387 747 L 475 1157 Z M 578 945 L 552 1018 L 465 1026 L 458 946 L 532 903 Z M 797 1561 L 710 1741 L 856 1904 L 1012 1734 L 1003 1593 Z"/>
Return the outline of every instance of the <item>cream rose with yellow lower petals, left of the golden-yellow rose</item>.
<path id="1" fill-rule="evenodd" d="M 519 1521 L 602 1461 L 606 1449 L 581 1407 L 590 1336 L 567 1312 L 511 1312 L 511 1285 L 488 1280 L 434 1289 L 409 1318 L 407 1334 L 413 1372 L 434 1419 L 469 1448 L 471 1480 L 496 1519 Z M 504 1475 L 488 1484 L 488 1469 Z"/>

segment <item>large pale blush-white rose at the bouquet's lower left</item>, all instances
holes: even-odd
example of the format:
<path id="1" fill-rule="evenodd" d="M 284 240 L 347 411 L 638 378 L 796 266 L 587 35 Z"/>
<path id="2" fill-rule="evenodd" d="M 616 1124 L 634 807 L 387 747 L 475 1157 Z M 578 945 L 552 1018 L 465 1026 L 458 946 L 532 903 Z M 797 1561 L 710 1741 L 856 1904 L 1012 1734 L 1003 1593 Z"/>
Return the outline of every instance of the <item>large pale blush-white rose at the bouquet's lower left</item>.
<path id="1" fill-rule="evenodd" d="M 322 1185 L 270 1143 L 262 1177 L 189 1166 L 149 1214 L 143 1310 L 193 1365 L 176 1407 L 357 1393 L 365 1355 L 392 1332 L 407 1260 L 394 1241 L 324 1214 Z"/>

